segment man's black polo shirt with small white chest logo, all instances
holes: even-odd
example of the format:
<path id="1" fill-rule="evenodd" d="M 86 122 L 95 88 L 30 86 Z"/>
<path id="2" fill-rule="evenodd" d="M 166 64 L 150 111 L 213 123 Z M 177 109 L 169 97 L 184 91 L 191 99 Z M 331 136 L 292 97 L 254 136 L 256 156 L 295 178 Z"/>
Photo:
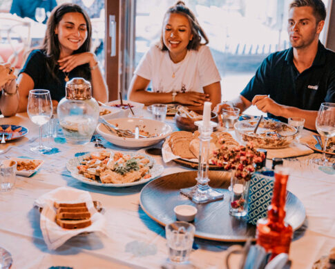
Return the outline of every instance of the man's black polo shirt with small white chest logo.
<path id="1" fill-rule="evenodd" d="M 285 106 L 303 110 L 318 110 L 324 102 L 335 102 L 335 52 L 318 43 L 313 64 L 299 73 L 293 63 L 293 48 L 267 57 L 241 95 L 252 101 L 256 94 L 269 97 Z M 268 113 L 268 117 L 287 122 Z"/>

